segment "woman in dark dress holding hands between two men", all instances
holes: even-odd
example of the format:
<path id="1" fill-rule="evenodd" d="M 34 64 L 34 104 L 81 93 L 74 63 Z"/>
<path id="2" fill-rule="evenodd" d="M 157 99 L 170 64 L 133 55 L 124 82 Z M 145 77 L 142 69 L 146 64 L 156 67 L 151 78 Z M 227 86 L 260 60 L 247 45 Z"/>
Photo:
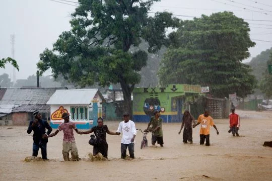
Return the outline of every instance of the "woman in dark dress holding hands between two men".
<path id="1" fill-rule="evenodd" d="M 119 135 L 119 133 L 109 131 L 107 125 L 103 125 L 102 118 L 97 119 L 97 126 L 91 128 L 88 131 L 81 131 L 80 134 L 89 134 L 92 132 L 94 132 L 95 136 L 98 139 L 98 144 L 94 145 L 93 148 L 93 155 L 95 156 L 98 153 L 101 153 L 105 158 L 108 158 L 108 143 L 106 140 L 106 133 L 110 135 Z"/>

